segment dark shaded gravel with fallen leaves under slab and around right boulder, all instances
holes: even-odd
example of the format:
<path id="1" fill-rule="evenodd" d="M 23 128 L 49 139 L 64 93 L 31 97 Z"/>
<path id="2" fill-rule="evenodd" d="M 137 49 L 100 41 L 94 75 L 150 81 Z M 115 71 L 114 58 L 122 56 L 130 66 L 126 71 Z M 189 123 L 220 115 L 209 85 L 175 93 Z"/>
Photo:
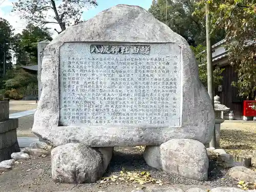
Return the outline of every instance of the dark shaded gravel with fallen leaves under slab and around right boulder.
<path id="1" fill-rule="evenodd" d="M 208 169 L 208 181 L 195 181 L 192 179 L 185 179 L 181 176 L 162 172 L 155 168 L 148 166 L 143 158 L 143 151 L 138 151 L 135 147 L 115 147 L 114 155 L 110 162 L 109 168 L 104 177 L 111 175 L 118 176 L 121 170 L 129 172 L 148 172 L 153 178 L 159 179 L 168 184 L 202 184 L 207 185 L 210 183 L 218 182 L 220 185 L 223 178 L 228 178 L 227 169 L 218 166 L 214 160 L 210 160 Z M 230 185 L 234 181 L 230 181 Z M 225 186 L 223 183 L 222 186 Z"/>

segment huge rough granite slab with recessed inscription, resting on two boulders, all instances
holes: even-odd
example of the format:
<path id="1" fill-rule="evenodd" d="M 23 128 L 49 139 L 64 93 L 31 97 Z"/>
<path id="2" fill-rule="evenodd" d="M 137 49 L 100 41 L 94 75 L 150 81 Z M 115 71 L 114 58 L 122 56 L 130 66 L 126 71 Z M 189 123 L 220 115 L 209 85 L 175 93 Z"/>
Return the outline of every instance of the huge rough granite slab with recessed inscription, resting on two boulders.
<path id="1" fill-rule="evenodd" d="M 144 48 L 144 51 L 141 51 L 141 56 L 135 56 L 136 54 L 121 56 L 120 53 L 117 55 L 108 55 L 104 53 L 110 52 L 104 52 L 104 50 L 102 50 L 102 47 L 104 48 L 104 46 L 95 47 L 95 45 L 113 46 L 114 44 L 122 46 L 119 52 L 123 53 L 125 53 L 126 48 L 130 49 L 129 46 L 138 46 L 141 47 L 141 49 Z M 150 53 L 146 51 L 148 46 L 152 48 Z M 100 52 L 102 54 L 100 54 L 97 49 L 101 49 Z M 168 52 L 168 55 L 165 54 L 166 52 Z M 154 65 L 157 67 L 155 69 L 156 71 L 160 69 L 168 71 L 167 73 L 169 73 L 169 77 L 172 78 L 175 77 L 173 76 L 175 73 L 174 71 L 177 70 L 175 73 L 177 75 L 177 84 L 174 83 L 173 86 L 175 89 L 177 88 L 177 93 L 174 95 L 177 96 L 178 100 L 177 102 L 174 102 L 174 97 L 171 97 L 174 96 L 173 93 L 170 94 L 170 96 L 164 96 L 164 98 L 167 98 L 165 102 L 168 103 L 167 107 L 164 106 L 164 108 L 161 108 L 161 105 L 158 105 L 157 108 L 152 108 L 150 103 L 151 100 L 144 99 L 147 97 L 146 94 L 151 94 L 146 86 L 145 89 L 143 89 L 143 87 L 140 88 L 138 92 L 139 94 L 141 91 L 141 94 L 144 93 L 145 95 L 141 95 L 141 97 L 135 95 L 134 97 L 127 96 L 133 94 L 132 91 L 136 89 L 135 87 L 129 89 L 129 83 L 142 82 L 142 73 L 144 73 L 145 76 L 153 75 L 154 78 L 158 78 L 159 75 L 162 75 L 162 73 L 160 74 L 159 72 L 147 73 L 146 67 L 151 67 L 151 64 L 147 65 L 145 63 L 146 61 L 136 61 L 138 62 L 137 66 L 141 66 L 141 69 L 138 70 L 140 77 L 138 77 L 136 81 L 131 81 L 131 79 L 127 80 L 127 76 L 123 77 L 124 79 L 122 79 L 122 81 L 126 83 L 124 86 L 125 88 L 118 88 L 114 90 L 114 92 L 112 89 L 108 88 L 108 86 L 113 86 L 111 83 L 114 82 L 114 80 L 110 81 L 110 78 L 105 78 L 106 75 L 104 75 L 104 73 L 109 73 L 108 71 L 104 72 L 103 69 L 100 71 L 101 69 L 99 68 L 100 70 L 98 72 L 92 72 L 92 69 L 94 69 L 93 67 L 84 67 L 86 66 L 84 63 L 88 63 L 89 60 L 93 58 L 95 60 L 100 58 L 127 59 L 132 57 L 135 59 L 136 57 L 137 59 L 146 59 L 147 57 L 151 57 L 151 54 L 152 57 L 154 57 L 153 59 L 159 59 L 159 62 L 154 60 Z M 80 55 L 80 58 L 78 58 L 77 55 Z M 165 59 L 168 62 L 170 61 L 170 67 L 166 66 L 167 62 L 165 64 L 161 63 L 162 59 Z M 176 62 L 175 59 L 178 59 L 178 61 Z M 71 63 L 73 63 L 73 67 L 69 69 Z M 127 60 L 124 63 L 125 65 L 123 66 L 134 67 L 134 74 L 136 64 L 131 64 L 130 62 L 130 64 L 127 65 Z M 124 67 L 120 67 L 122 65 L 121 62 L 119 62 L 119 64 L 117 62 L 111 63 L 110 66 L 116 68 L 110 71 L 110 76 L 111 74 L 122 74 L 120 73 L 120 70 L 123 70 Z M 92 76 L 99 77 L 99 79 L 103 79 L 103 83 L 109 83 L 102 86 L 100 81 L 94 80 L 94 85 L 95 82 L 97 82 L 96 87 L 98 86 L 98 88 L 94 89 L 95 92 L 104 92 L 104 88 L 106 88 L 111 90 L 109 93 L 110 95 L 112 94 L 112 96 L 108 97 L 108 95 L 106 95 L 106 98 L 103 99 L 97 99 L 96 97 L 96 99 L 93 100 L 93 96 L 86 95 L 88 93 L 82 90 L 90 89 L 90 93 L 93 93 L 93 90 L 90 87 L 92 84 L 85 85 L 84 81 L 78 78 L 81 75 L 86 75 L 84 72 L 76 73 L 77 69 L 81 66 L 81 70 L 91 70 L 90 75 L 86 76 L 87 78 L 91 78 Z M 95 64 L 92 66 L 97 65 Z M 70 76 L 70 79 L 66 76 L 65 80 L 64 74 L 66 69 L 70 70 L 70 72 L 66 71 L 66 75 L 69 75 L 69 73 L 73 75 Z M 73 72 L 73 69 L 75 72 Z M 117 71 L 117 69 L 119 71 Z M 165 73 L 163 75 L 165 77 L 168 74 Z M 115 78 L 119 78 L 119 76 L 116 76 Z M 69 89 L 67 89 L 68 91 L 65 91 L 65 83 L 70 82 L 72 83 L 71 87 L 74 87 L 72 93 L 74 93 L 75 97 L 64 98 L 65 96 L 70 97 L 70 95 L 73 95 L 69 92 L 69 89 L 72 88 L 69 87 Z M 86 81 L 86 83 L 88 82 L 89 81 Z M 162 79 L 159 82 L 165 83 L 165 79 Z M 38 102 L 37 111 L 35 112 L 32 131 L 40 138 L 48 140 L 53 145 L 61 145 L 70 142 L 83 142 L 89 146 L 160 145 L 173 138 L 195 139 L 205 144 L 209 143 L 212 129 L 214 129 L 214 109 L 205 88 L 199 80 L 198 65 L 186 40 L 174 33 L 165 24 L 159 22 L 159 20 L 154 18 L 152 14 L 138 6 L 117 5 L 102 11 L 87 22 L 72 26 L 63 31 L 44 50 L 41 68 L 41 83 L 42 92 Z M 75 86 L 76 83 L 80 85 L 83 84 L 83 87 Z M 167 80 L 167 83 L 172 84 L 173 82 Z M 161 91 L 161 88 L 164 89 L 162 86 L 154 86 L 157 87 L 157 89 L 156 92 L 154 90 L 152 91 L 153 94 Z M 168 91 L 172 89 L 170 87 L 167 88 Z M 84 94 L 85 92 L 86 94 Z M 125 101 L 122 101 L 122 103 L 124 102 L 124 106 L 122 105 L 121 108 L 119 107 L 120 104 L 122 104 L 121 101 L 118 101 L 119 103 L 117 103 L 117 107 L 110 105 L 109 108 L 104 108 L 100 101 L 103 100 L 106 102 L 108 101 L 108 98 L 114 98 L 113 95 L 116 94 L 116 92 L 118 92 L 118 97 L 123 96 L 122 94 L 126 94 L 124 96 L 125 99 L 135 99 L 137 97 L 137 100 L 134 100 L 134 102 L 141 101 L 142 103 L 133 106 L 142 111 L 147 109 L 166 109 L 167 121 L 151 123 L 148 119 L 149 117 L 152 117 L 153 120 L 154 117 L 156 117 L 156 121 L 158 121 L 158 119 L 163 119 L 165 113 L 161 110 L 155 112 L 155 115 L 147 115 L 146 112 L 138 110 L 137 116 L 134 113 L 131 114 L 132 104 L 129 106 L 125 105 L 127 102 L 131 103 L 131 100 L 127 101 L 124 99 Z M 121 96 L 119 94 L 121 94 Z M 79 95 L 80 98 L 77 97 L 79 98 L 77 99 L 76 96 Z M 157 99 L 154 99 L 152 101 L 153 105 L 154 101 L 161 102 L 161 97 L 159 96 L 159 98 L 157 97 Z M 81 102 L 82 106 L 80 106 L 79 109 L 78 105 Z M 103 103 L 103 105 L 104 104 L 105 103 Z M 176 106 L 173 106 L 173 104 L 176 104 Z M 65 111 L 65 108 L 69 108 L 69 106 L 71 111 Z M 86 107 L 84 108 L 84 106 Z M 96 117 L 101 117 L 95 113 L 97 112 L 97 109 L 100 109 L 100 115 L 106 114 L 105 123 L 100 123 L 100 118 L 98 119 L 99 122 L 97 122 Z M 120 109 L 130 113 L 129 116 L 127 116 L 127 113 L 122 113 L 121 117 L 122 119 L 126 119 L 129 123 L 127 123 L 127 121 L 124 123 L 122 121 L 116 121 L 115 116 L 111 115 L 119 112 Z M 89 110 L 94 111 L 89 112 Z M 82 111 L 82 115 L 79 113 L 80 111 Z M 85 111 L 86 115 L 84 115 Z M 95 114 L 92 115 L 92 113 Z M 180 114 L 180 119 L 178 118 L 178 114 Z M 93 119 L 93 123 L 91 123 L 91 121 L 88 122 L 88 118 L 92 117 L 95 118 Z M 132 120 L 131 117 L 142 118 L 141 123 L 134 123 L 134 120 Z M 175 120 L 172 121 L 173 117 Z M 70 118 L 70 120 L 65 118 Z M 109 121 L 108 118 L 110 119 Z"/>

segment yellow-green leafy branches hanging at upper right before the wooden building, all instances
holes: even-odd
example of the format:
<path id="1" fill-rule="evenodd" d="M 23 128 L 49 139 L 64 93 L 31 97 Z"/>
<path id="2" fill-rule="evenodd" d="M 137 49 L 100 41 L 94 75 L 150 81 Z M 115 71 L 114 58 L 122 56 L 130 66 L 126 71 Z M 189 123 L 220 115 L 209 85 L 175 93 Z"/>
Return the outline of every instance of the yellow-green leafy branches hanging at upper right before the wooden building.
<path id="1" fill-rule="evenodd" d="M 256 2 L 249 0 L 209 0 L 212 34 L 225 29 L 226 49 L 238 81 L 233 82 L 240 96 L 256 90 Z M 200 0 L 194 15 L 204 16 L 205 1 Z M 251 96 L 252 97 L 252 96 Z"/>

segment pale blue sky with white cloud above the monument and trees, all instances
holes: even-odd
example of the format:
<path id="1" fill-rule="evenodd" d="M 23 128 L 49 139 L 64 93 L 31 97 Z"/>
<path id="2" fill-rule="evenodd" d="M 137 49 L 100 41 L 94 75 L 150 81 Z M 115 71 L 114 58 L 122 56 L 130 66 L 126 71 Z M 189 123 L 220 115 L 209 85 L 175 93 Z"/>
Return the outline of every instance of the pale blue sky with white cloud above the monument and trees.
<path id="1" fill-rule="evenodd" d="M 20 20 L 18 13 L 11 13 L 12 3 L 17 0 L 0 0 L 0 17 L 5 18 L 13 26 L 14 32 L 21 32 L 27 25 L 24 20 Z M 99 12 L 113 7 L 118 4 L 137 5 L 144 9 L 150 8 L 152 0 L 97 0 L 98 6 L 83 13 L 83 19 L 88 20 Z M 55 24 L 54 24 L 55 25 Z M 52 28 L 58 28 L 58 26 L 48 26 Z M 55 34 L 53 35 L 55 36 Z"/>

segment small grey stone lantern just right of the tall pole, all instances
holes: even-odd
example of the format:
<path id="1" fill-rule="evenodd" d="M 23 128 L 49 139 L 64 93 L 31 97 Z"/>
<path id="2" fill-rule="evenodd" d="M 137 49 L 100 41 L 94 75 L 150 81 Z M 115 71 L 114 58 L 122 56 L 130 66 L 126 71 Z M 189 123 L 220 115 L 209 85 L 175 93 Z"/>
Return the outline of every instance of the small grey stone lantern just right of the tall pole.
<path id="1" fill-rule="evenodd" d="M 221 104 L 219 100 L 220 97 L 216 95 L 214 97 L 216 148 L 220 147 L 221 123 L 224 122 L 223 112 L 230 110 L 230 108 L 227 108 L 224 104 Z"/>

